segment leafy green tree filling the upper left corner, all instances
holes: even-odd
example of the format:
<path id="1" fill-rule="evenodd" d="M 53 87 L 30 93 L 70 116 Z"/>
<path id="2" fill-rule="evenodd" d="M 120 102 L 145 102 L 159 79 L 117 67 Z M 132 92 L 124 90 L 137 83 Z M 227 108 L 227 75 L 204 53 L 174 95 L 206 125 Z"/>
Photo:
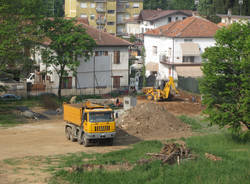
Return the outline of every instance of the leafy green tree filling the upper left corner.
<path id="1" fill-rule="evenodd" d="M 43 0 L 0 0 L 0 70 L 30 62 L 30 48 L 40 39 Z"/>

